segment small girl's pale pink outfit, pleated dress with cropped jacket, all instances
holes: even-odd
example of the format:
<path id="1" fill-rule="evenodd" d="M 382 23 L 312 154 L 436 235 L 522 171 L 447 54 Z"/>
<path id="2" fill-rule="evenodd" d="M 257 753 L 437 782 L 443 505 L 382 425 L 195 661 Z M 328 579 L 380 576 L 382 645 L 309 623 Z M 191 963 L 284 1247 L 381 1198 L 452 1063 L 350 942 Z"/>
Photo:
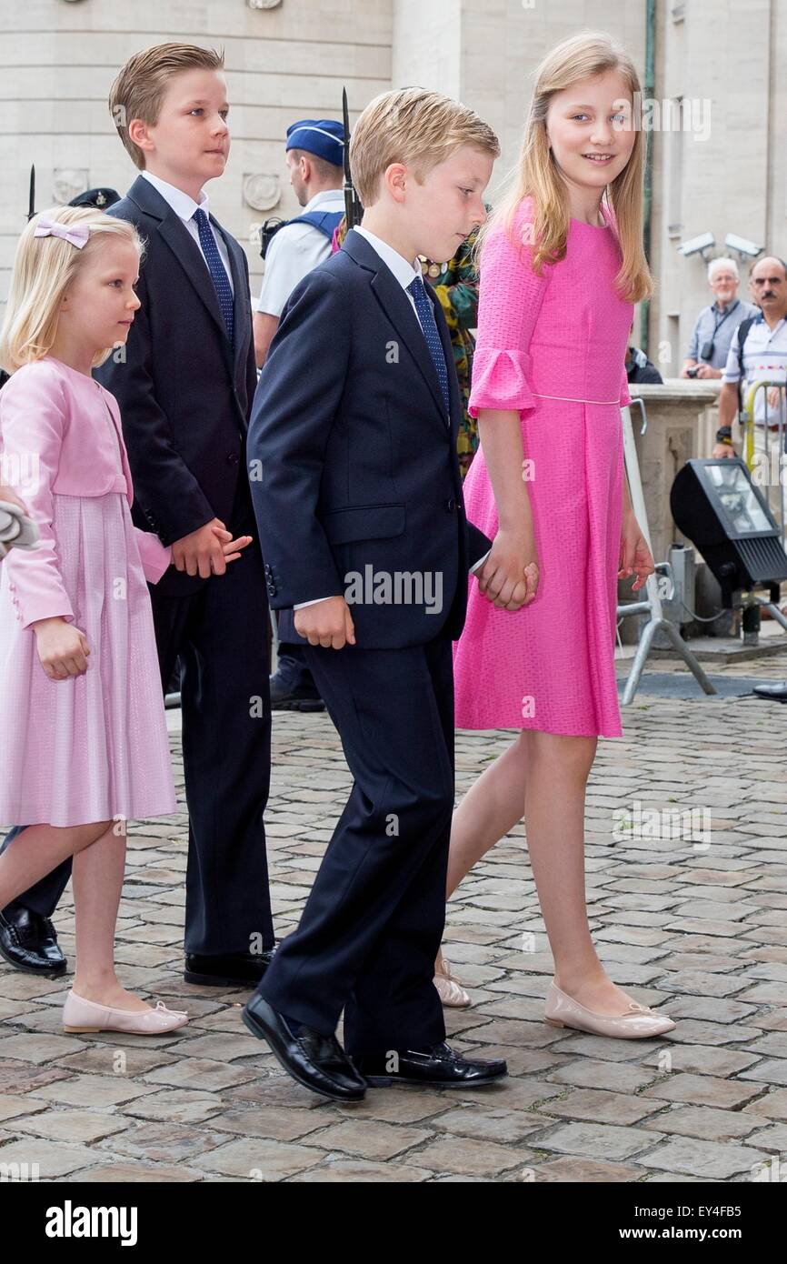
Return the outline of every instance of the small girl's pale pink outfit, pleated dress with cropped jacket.
<path id="1" fill-rule="evenodd" d="M 145 570 L 153 581 L 160 578 L 168 551 L 157 537 L 143 538 L 131 522 L 116 401 L 97 382 L 51 358 L 19 369 L 5 392 L 13 392 L 5 412 L 0 394 L 6 451 L 11 445 L 20 450 L 29 425 L 28 442 L 38 459 L 44 444 L 37 442 L 35 427 L 52 435 L 68 394 L 71 423 L 83 427 L 85 461 L 90 463 L 99 436 L 110 445 L 105 451 L 114 453 L 116 479 L 105 495 L 52 492 L 47 484 L 57 471 L 57 444 L 47 441 L 37 487 L 16 488 L 42 522 L 43 547 L 28 554 L 11 550 L 0 565 L 0 823 L 64 827 L 173 813 L 177 803 L 145 580 Z M 23 590 L 40 593 L 29 599 L 45 602 L 53 586 L 71 605 L 73 626 L 85 633 L 91 651 L 83 675 L 59 681 L 44 674 L 34 629 L 24 626 L 20 613 Z M 49 613 L 56 613 L 57 598 L 54 603 Z"/>

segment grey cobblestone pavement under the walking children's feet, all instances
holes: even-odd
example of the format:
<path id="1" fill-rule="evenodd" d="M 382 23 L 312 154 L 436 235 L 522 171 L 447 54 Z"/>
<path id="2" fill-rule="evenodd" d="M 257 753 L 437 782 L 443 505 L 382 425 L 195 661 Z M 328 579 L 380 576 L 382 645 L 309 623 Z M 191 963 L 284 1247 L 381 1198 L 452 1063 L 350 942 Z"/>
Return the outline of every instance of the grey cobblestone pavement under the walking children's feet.
<path id="1" fill-rule="evenodd" d="M 784 659 L 724 674 L 778 679 Z M 474 1001 L 448 1012 L 450 1036 L 505 1055 L 510 1071 L 476 1092 L 378 1088 L 339 1106 L 294 1085 L 243 1026 L 241 990 L 183 983 L 186 817 L 140 823 L 120 977 L 191 1021 L 176 1036 L 63 1035 L 68 981 L 1 966 L 0 1164 L 66 1182 L 757 1178 L 787 1150 L 786 720 L 752 696 L 640 695 L 625 737 L 600 743 L 587 804 L 594 937 L 615 981 L 676 1019 L 667 1038 L 543 1023 L 552 961 L 522 828 L 488 853 L 446 930 Z M 460 794 L 508 741 L 459 734 Z M 172 747 L 182 799 L 177 733 Z M 326 715 L 277 714 L 268 837 L 279 934 L 297 921 L 347 784 Z M 707 810 L 710 846 L 664 837 L 670 828 L 616 842 L 615 813 L 637 803 L 671 813 L 662 825 Z M 56 920 L 72 957 L 67 897 Z"/>

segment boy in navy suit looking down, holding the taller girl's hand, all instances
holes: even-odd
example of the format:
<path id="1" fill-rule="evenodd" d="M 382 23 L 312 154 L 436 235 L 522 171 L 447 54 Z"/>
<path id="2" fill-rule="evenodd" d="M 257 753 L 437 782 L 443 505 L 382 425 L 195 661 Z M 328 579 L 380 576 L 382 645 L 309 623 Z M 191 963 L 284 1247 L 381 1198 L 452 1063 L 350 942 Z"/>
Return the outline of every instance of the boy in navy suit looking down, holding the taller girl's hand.
<path id="1" fill-rule="evenodd" d="M 484 221 L 498 153 L 478 115 L 436 92 L 387 92 L 364 110 L 350 148 L 363 226 L 291 295 L 249 427 L 270 603 L 294 609 L 355 784 L 244 1021 L 296 1079 L 339 1100 L 507 1073 L 445 1043 L 432 982 L 454 809 L 451 641 L 490 541 L 464 514 L 451 343 L 417 259 L 450 259 Z"/>

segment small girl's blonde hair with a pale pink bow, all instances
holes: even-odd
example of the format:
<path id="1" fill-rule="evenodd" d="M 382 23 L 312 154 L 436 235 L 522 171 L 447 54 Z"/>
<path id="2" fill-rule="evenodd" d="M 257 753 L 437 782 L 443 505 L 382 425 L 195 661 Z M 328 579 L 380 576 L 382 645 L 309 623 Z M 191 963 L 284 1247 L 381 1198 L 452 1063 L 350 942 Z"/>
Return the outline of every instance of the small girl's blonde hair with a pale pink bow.
<path id="1" fill-rule="evenodd" d="M 68 228 L 86 225 L 88 238 L 83 246 L 48 234 L 35 236 L 42 220 Z M 61 303 L 78 269 L 95 258 L 102 243 L 120 238 L 133 245 L 141 258 L 143 241 L 133 224 L 114 219 L 91 206 L 56 206 L 40 211 L 28 222 L 16 245 L 14 270 L 0 329 L 0 364 L 14 373 L 23 364 L 48 355 L 57 335 Z M 111 346 L 96 354 L 93 367 L 104 364 Z"/>

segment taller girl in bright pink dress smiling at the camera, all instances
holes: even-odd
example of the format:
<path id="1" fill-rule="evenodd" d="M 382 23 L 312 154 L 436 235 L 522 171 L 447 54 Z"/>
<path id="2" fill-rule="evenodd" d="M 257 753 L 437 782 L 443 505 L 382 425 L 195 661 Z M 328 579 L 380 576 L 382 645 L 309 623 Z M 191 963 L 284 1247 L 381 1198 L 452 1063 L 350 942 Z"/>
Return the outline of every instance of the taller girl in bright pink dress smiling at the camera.
<path id="1" fill-rule="evenodd" d="M 544 1016 L 620 1038 L 675 1024 L 606 975 L 587 924 L 585 786 L 619 737 L 616 580 L 653 573 L 623 469 L 620 407 L 642 248 L 644 135 L 625 51 L 580 34 L 542 62 L 515 186 L 483 229 L 467 517 L 494 547 L 455 650 L 459 728 L 519 731 L 454 819 L 448 892 L 524 813 L 555 961 Z M 456 980 L 438 990 L 466 1002 Z"/>

